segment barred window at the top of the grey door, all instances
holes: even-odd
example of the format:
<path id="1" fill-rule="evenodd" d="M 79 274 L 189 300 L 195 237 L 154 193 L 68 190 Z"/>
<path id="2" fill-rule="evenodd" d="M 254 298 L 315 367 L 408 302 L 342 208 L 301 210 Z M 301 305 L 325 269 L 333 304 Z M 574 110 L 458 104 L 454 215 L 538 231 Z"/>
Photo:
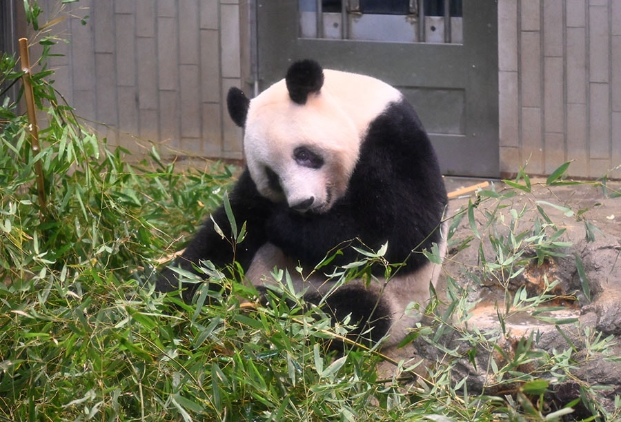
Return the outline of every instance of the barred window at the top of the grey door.
<path id="1" fill-rule="evenodd" d="M 463 42 L 462 0 L 298 0 L 299 37 Z"/>

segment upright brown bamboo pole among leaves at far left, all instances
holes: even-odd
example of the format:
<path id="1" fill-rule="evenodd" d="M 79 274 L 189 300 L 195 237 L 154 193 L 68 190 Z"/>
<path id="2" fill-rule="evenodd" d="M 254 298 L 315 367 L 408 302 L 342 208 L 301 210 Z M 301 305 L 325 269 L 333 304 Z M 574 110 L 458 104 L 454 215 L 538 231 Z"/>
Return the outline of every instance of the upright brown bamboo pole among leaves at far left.
<path id="1" fill-rule="evenodd" d="M 37 125 L 37 113 L 34 108 L 34 93 L 32 83 L 30 83 L 30 56 L 28 54 L 28 39 L 19 39 L 19 55 L 21 59 L 21 70 L 23 72 L 23 95 L 26 98 L 26 110 L 28 112 L 28 128 L 30 129 L 30 148 L 32 157 L 37 157 L 41 152 L 39 145 L 39 126 Z M 43 183 L 43 168 L 41 160 L 34 161 L 34 174 L 37 177 L 37 192 L 39 194 L 39 206 L 43 214 L 47 210 L 46 188 Z"/>

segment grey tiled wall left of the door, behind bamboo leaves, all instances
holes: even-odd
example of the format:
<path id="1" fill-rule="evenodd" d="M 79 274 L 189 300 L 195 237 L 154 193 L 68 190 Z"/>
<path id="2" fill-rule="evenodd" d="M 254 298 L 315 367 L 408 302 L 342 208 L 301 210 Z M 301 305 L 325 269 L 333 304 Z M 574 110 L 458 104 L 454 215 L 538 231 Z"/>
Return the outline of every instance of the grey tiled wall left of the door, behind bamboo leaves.
<path id="1" fill-rule="evenodd" d="M 50 17 L 59 1 L 39 1 Z M 226 92 L 248 74 L 248 2 L 80 0 L 52 30 L 56 87 L 110 143 L 242 158 Z M 86 25 L 81 19 L 86 18 Z"/>

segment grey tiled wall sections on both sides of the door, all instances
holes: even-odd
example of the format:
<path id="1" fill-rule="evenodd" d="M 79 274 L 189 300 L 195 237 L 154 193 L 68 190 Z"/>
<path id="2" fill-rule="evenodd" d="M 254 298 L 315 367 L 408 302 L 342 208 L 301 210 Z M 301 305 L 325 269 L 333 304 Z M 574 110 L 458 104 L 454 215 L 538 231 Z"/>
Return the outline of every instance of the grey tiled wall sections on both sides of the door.
<path id="1" fill-rule="evenodd" d="M 230 86 L 248 88 L 249 0 L 81 0 L 55 26 L 57 83 L 115 143 L 239 159 Z M 293 1 L 293 0 L 292 0 Z M 44 10 L 58 0 L 41 0 Z M 86 25 L 80 18 L 88 14 Z M 600 177 L 621 164 L 621 1 L 498 0 L 500 168 Z M 621 171 L 611 172 L 621 177 Z"/>

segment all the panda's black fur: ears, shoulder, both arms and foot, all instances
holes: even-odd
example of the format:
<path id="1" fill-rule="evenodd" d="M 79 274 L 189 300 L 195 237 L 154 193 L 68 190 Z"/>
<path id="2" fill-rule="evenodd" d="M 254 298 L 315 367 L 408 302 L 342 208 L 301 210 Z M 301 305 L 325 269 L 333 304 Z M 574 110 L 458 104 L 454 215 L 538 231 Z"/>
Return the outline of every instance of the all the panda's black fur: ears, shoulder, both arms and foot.
<path id="1" fill-rule="evenodd" d="M 295 86 L 288 90 L 297 103 L 302 97 L 305 102 L 308 92 L 322 86 L 323 71 L 317 65 L 321 75 L 318 78 L 313 63 L 317 65 L 315 62 L 294 64 L 288 72 L 287 85 L 291 82 Z M 302 68 L 302 76 L 293 77 L 297 68 Z M 246 121 L 248 102 L 237 91 L 229 92 L 228 108 L 239 124 Z M 351 245 L 344 242 L 355 245 L 362 242 L 377 250 L 388 241 L 386 259 L 391 263 L 405 262 L 400 273 L 409 273 L 428 262 L 418 252 L 431 248 L 433 242 L 440 243 L 440 223 L 446 203 L 446 190 L 431 142 L 413 108 L 402 100 L 389 104 L 369 126 L 348 190 L 328 212 L 301 214 L 286 203 L 268 201 L 257 192 L 246 169 L 230 193 L 237 225 L 246 222 L 247 232 L 235 257 L 228 242 L 221 239 L 208 219 L 175 265 L 195 272 L 195 265 L 201 260 L 210 260 L 219 268 L 237 261 L 248 270 L 257 250 L 267 242 L 307 269 L 322 261 L 328 251 L 344 246 L 343 254 L 330 263 L 344 265 L 359 259 Z M 230 233 L 224 207 L 216 210 L 213 218 L 225 233 Z M 332 268 L 323 270 L 331 272 Z M 373 273 L 382 276 L 384 268 L 373 268 Z M 169 292 L 177 285 L 176 274 L 166 269 L 156 287 Z M 186 301 L 191 300 L 195 288 L 195 285 L 188 286 L 184 292 Z M 319 300 L 313 295 L 307 299 L 311 303 Z M 381 339 L 390 327 L 388 305 L 359 286 L 339 288 L 326 299 L 326 304 L 336 319 L 352 314 L 353 323 L 367 321 L 354 334 L 364 332 L 373 320 L 371 341 Z"/>

